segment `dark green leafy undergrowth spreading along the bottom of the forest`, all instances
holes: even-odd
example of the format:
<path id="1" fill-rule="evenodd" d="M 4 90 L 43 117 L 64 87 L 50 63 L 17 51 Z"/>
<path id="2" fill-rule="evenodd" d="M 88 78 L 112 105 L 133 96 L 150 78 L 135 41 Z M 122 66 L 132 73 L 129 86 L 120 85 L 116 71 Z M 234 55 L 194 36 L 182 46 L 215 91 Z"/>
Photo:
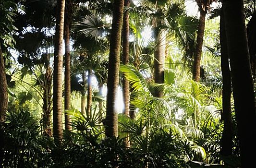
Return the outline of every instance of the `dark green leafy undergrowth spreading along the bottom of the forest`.
<path id="1" fill-rule="evenodd" d="M 138 135 L 127 148 L 123 138 L 106 138 L 93 129 L 64 132 L 61 145 L 46 137 L 27 111 L 11 112 L 1 125 L 2 168 L 196 168 L 195 145 L 158 129 Z M 90 122 L 92 126 L 92 122 Z M 86 127 L 86 122 L 84 123 Z M 75 128 L 74 130 L 77 130 Z M 139 138 L 138 138 L 139 137 Z M 139 141 L 139 142 L 138 142 Z M 190 166 L 189 166 L 189 164 Z M 194 165 L 194 166 L 193 166 Z M 199 167 L 201 167 L 199 165 Z M 221 166 L 222 168 L 223 166 Z M 232 168 L 232 167 L 226 167 Z"/>

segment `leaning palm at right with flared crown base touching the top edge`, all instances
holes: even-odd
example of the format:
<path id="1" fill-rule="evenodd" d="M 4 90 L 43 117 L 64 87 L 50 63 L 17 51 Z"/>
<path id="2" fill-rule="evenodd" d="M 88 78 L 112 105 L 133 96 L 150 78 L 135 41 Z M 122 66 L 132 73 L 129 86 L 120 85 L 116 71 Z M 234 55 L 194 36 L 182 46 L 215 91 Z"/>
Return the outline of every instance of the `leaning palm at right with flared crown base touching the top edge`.
<path id="1" fill-rule="evenodd" d="M 210 4 L 216 0 L 195 0 L 200 11 L 198 31 L 196 37 L 195 54 L 194 54 L 194 64 L 193 64 L 193 80 L 199 82 L 200 79 L 200 61 L 202 55 L 202 47 L 204 42 L 204 32 L 205 32 L 205 20 L 207 11 L 210 9 Z"/>

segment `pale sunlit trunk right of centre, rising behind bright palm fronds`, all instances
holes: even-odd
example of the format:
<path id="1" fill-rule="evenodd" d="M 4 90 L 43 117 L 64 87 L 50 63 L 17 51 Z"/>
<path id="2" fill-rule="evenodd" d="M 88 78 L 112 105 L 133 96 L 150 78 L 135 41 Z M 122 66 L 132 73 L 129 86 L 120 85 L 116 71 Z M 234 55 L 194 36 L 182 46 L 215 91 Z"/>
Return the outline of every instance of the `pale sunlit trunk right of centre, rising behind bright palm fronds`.
<path id="1" fill-rule="evenodd" d="M 166 46 L 166 33 L 160 31 L 156 36 L 157 48 L 154 52 L 154 78 L 156 84 L 164 83 L 164 63 L 165 63 L 165 46 Z M 162 97 L 163 91 L 155 91 L 156 97 Z"/>

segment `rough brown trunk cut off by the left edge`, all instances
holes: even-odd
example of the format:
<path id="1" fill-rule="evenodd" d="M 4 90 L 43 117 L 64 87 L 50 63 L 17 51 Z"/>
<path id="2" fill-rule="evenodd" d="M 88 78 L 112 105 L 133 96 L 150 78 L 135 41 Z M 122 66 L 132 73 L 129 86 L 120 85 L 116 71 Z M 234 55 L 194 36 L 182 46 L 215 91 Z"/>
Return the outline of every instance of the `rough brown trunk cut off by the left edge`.
<path id="1" fill-rule="evenodd" d="M 0 43 L 0 122 L 5 119 L 5 113 L 8 106 L 7 80 L 4 69 L 3 53 Z"/>

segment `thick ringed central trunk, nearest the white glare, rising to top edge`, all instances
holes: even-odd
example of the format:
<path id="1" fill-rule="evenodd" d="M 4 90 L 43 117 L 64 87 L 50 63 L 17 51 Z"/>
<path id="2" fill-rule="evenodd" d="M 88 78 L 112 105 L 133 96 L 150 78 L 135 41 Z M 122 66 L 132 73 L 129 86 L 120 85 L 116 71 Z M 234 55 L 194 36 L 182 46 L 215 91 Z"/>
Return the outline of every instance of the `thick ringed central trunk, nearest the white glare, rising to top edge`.
<path id="1" fill-rule="evenodd" d="M 117 112 L 115 109 L 119 82 L 120 46 L 124 0 L 114 1 L 112 30 L 110 38 L 110 57 L 108 72 L 108 93 L 106 111 L 106 136 L 118 136 Z"/>

